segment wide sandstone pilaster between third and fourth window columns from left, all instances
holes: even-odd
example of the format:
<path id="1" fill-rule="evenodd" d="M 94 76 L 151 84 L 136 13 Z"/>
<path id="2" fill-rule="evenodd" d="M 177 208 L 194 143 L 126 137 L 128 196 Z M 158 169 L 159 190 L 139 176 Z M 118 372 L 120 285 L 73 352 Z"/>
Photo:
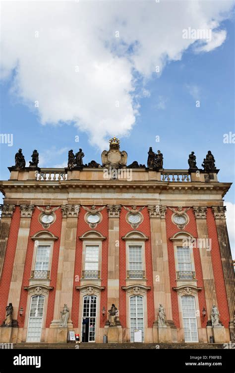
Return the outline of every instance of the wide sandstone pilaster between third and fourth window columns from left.
<path id="1" fill-rule="evenodd" d="M 172 320 L 171 286 L 167 249 L 165 206 L 148 206 L 151 227 L 151 247 L 153 265 L 154 315 L 158 320 L 159 305 L 166 310 L 167 320 Z"/>

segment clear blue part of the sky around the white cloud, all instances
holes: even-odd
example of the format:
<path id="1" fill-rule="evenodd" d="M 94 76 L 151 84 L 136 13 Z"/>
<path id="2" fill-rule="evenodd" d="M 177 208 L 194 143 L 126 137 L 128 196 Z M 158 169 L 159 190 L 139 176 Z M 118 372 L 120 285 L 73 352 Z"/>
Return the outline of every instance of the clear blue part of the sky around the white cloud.
<path id="1" fill-rule="evenodd" d="M 37 24 L 35 29 L 39 29 L 43 33 L 43 24 L 40 26 Z M 152 146 L 155 151 L 158 149 L 162 151 L 164 168 L 166 169 L 188 168 L 187 159 L 191 151 L 195 152 L 197 165 L 200 167 L 207 151 L 211 150 L 216 159 L 216 166 L 220 169 L 219 181 L 234 182 L 235 144 L 225 144 L 223 142 L 225 133 L 235 132 L 234 18 L 230 16 L 230 19 L 220 21 L 219 29 L 227 31 L 226 40 L 219 47 L 209 52 L 196 53 L 194 45 L 191 44 L 188 48 L 182 49 L 178 61 L 176 61 L 176 58 L 168 58 L 167 62 L 165 61 L 160 76 L 155 72 L 147 73 L 143 66 L 139 68 L 136 74 L 133 73 L 131 83 L 127 83 L 126 90 L 130 89 L 130 85 L 132 89 L 135 89 L 139 104 L 138 114 L 135 115 L 135 124 L 131 124 L 132 129 L 129 129 L 131 125 L 127 125 L 128 135 L 124 135 L 125 130 L 120 133 L 120 147 L 127 151 L 128 163 L 137 160 L 139 163 L 146 164 L 148 148 Z M 158 43 L 156 42 L 157 48 Z M 5 51 L 5 48 L 3 50 Z M 104 143 L 107 143 L 106 149 L 108 148 L 108 138 L 110 137 L 107 135 L 107 128 L 105 132 L 101 123 L 94 124 L 98 131 L 96 132 L 96 128 L 92 138 L 91 132 L 94 131 L 94 128 L 89 127 L 89 124 L 86 125 L 84 119 L 81 120 L 81 123 L 83 127 L 88 128 L 86 131 L 82 131 L 81 126 L 79 128 L 79 123 L 74 125 L 76 121 L 73 121 L 72 118 L 63 121 L 63 115 L 60 113 L 55 115 L 55 110 L 51 113 L 50 108 L 47 109 L 47 112 L 35 109 L 33 96 L 28 93 L 25 94 L 24 82 L 21 80 L 20 83 L 20 79 L 27 76 L 27 69 L 21 76 L 19 74 L 19 69 L 23 66 L 23 62 L 21 65 L 23 59 L 21 57 L 20 60 L 20 53 L 19 56 L 16 56 L 16 58 L 19 57 L 18 64 L 16 63 L 15 66 L 13 63 L 12 65 L 9 64 L 9 72 L 3 76 L 4 79 L 2 79 L 0 86 L 0 131 L 1 133 L 13 133 L 12 147 L 0 144 L 1 180 L 8 179 L 7 166 L 14 164 L 14 154 L 19 147 L 23 149 L 27 161 L 30 160 L 33 149 L 37 149 L 42 167 L 62 166 L 67 161 L 68 150 L 78 151 L 80 147 L 85 153 L 84 163 L 88 163 L 92 159 L 101 162 L 101 149 L 104 149 Z M 112 48 L 112 53 L 114 53 L 114 48 Z M 120 54 L 120 49 L 118 49 L 118 53 Z M 128 53 L 130 53 L 130 50 L 128 50 Z M 168 53 L 170 54 L 169 51 Z M 47 60 L 46 56 L 45 59 Z M 128 62 L 129 58 L 126 58 L 124 63 Z M 132 71 L 138 66 L 138 63 L 138 61 L 135 62 Z M 53 74 L 53 66 L 51 65 L 50 68 L 47 67 L 46 70 L 49 75 Z M 129 72 L 126 74 L 127 78 L 128 74 Z M 17 78 L 17 76 L 20 76 L 20 78 L 16 84 L 14 78 Z M 141 76 L 140 79 L 138 79 L 139 76 Z M 63 76 L 60 75 L 59 79 L 61 79 L 60 89 L 63 91 Z M 12 92 L 12 85 L 14 87 L 17 85 L 14 93 Z M 37 91 L 37 86 L 34 86 L 34 88 Z M 92 83 L 90 89 L 92 91 Z M 43 94 L 47 95 L 46 88 Z M 89 90 L 84 91 L 84 95 L 89 96 Z M 130 96 L 128 96 L 128 99 Z M 48 97 L 52 100 L 52 97 Z M 37 94 L 35 99 L 37 99 Z M 78 97 L 78 102 L 79 99 Z M 102 99 L 102 93 L 99 97 L 98 89 L 96 100 L 99 102 Z M 90 99 L 90 101 L 92 100 L 94 98 Z M 199 108 L 195 105 L 196 100 L 200 100 Z M 76 103 L 76 97 L 74 102 Z M 101 104 L 105 111 L 105 103 Z M 58 101 L 58 108 L 60 105 Z M 134 107 L 134 105 L 132 106 Z M 89 110 L 90 108 L 88 112 Z M 54 124 L 42 124 L 42 122 L 50 122 L 50 120 L 47 120 L 50 116 L 59 118 L 59 120 L 53 119 Z M 46 119 L 43 120 L 43 117 Z M 112 126 L 112 135 L 118 135 L 118 132 L 120 132 L 118 118 L 120 117 L 117 116 L 117 123 Z M 79 122 L 79 119 L 77 122 Z M 97 140 L 96 142 L 99 131 L 102 132 L 103 130 L 105 141 L 99 142 Z M 76 135 L 79 135 L 79 143 L 75 142 Z M 160 136 L 160 142 L 158 143 L 155 141 L 157 135 Z M 231 203 L 230 207 L 233 208 L 233 211 L 234 197 L 235 187 L 233 185 L 225 197 L 226 202 Z M 231 242 L 234 245 L 234 234 L 231 228 L 234 212 L 230 209 L 229 213 Z"/>

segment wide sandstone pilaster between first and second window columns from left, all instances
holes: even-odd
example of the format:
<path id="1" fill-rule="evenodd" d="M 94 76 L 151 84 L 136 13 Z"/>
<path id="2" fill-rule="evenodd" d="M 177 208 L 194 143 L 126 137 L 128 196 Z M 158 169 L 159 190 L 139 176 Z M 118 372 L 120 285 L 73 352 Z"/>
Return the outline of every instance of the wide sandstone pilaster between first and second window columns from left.
<path id="1" fill-rule="evenodd" d="M 80 205 L 62 205 L 61 210 L 62 226 L 60 234 L 56 298 L 54 319 L 51 323 L 51 327 L 59 326 L 60 311 L 62 310 L 64 304 L 66 304 L 69 309 L 68 326 L 72 326 L 71 310 L 74 283 L 77 219 Z M 51 341 L 54 341 L 54 337 L 52 337 Z"/>

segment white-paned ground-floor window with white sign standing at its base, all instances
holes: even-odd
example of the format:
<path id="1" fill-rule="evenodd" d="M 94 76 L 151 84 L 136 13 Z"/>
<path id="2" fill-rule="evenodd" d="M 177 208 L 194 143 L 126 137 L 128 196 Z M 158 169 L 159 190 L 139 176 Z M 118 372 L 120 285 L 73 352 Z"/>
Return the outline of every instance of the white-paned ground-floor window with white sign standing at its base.
<path id="1" fill-rule="evenodd" d="M 130 297 L 130 341 L 134 342 L 134 330 L 142 330 L 142 342 L 144 341 L 144 309 L 143 297 L 136 295 Z"/>

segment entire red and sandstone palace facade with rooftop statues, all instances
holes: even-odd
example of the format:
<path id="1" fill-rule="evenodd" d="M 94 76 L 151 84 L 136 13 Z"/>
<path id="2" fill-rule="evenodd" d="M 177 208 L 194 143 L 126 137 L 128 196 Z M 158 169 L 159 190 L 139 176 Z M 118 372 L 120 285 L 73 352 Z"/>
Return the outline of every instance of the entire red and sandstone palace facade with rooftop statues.
<path id="1" fill-rule="evenodd" d="M 152 149 L 147 167 L 126 166 L 116 138 L 102 164 L 80 150 L 43 169 L 34 151 L 25 167 L 17 154 L 0 182 L 0 342 L 233 340 L 231 183 L 210 154 L 204 170 L 193 155 L 164 170 Z"/>

